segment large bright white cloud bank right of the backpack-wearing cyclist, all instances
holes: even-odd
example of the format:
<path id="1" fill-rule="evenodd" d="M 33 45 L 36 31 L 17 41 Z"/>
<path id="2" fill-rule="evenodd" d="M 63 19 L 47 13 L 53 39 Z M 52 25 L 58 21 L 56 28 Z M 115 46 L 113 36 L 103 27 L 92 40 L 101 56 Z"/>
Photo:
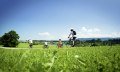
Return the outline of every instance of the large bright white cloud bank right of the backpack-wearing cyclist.
<path id="1" fill-rule="evenodd" d="M 86 28 L 82 27 L 77 34 L 79 38 L 93 38 L 93 37 L 120 37 L 120 32 L 104 33 L 99 28 Z"/>

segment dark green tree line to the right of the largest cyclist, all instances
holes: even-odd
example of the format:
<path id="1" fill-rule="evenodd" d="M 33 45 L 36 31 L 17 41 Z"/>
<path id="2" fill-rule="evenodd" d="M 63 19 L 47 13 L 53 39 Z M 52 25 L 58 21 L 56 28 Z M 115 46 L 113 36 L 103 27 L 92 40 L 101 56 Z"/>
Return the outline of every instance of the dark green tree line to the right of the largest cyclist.
<path id="1" fill-rule="evenodd" d="M 120 38 L 111 38 L 108 40 L 102 41 L 101 39 L 92 39 L 80 41 L 78 40 L 76 46 L 84 47 L 84 46 L 113 46 L 120 44 Z"/>

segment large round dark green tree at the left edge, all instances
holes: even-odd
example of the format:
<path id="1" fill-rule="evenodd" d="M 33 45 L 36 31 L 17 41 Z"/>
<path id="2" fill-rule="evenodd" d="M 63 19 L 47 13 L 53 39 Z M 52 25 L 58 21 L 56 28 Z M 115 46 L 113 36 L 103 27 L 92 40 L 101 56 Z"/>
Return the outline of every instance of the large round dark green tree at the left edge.
<path id="1" fill-rule="evenodd" d="M 19 35 L 16 31 L 11 30 L 1 37 L 1 42 L 4 47 L 16 47 L 19 44 Z"/>

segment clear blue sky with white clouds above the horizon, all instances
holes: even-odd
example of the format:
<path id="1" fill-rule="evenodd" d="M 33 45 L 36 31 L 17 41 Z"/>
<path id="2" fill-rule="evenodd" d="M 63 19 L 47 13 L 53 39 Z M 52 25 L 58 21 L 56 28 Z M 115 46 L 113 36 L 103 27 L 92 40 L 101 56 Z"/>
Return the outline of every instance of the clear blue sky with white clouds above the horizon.
<path id="1" fill-rule="evenodd" d="M 20 40 L 120 37 L 120 0 L 0 0 L 0 36 Z"/>

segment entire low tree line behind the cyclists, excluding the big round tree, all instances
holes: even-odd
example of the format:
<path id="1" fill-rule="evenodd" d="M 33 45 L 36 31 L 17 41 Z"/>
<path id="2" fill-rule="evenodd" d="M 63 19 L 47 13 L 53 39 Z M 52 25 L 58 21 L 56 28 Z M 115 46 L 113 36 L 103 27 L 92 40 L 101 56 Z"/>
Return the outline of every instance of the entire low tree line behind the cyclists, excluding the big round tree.
<path id="1" fill-rule="evenodd" d="M 46 40 L 33 40 L 33 45 L 43 45 Z M 57 45 L 58 41 L 47 41 L 51 45 Z M 63 45 L 67 45 L 68 40 L 62 41 Z M 69 43 L 70 44 L 70 43 Z M 76 47 L 85 47 L 85 46 L 113 46 L 120 44 L 120 38 L 111 38 L 108 40 L 101 40 L 101 39 L 91 39 L 91 40 L 76 40 L 75 41 Z"/>

